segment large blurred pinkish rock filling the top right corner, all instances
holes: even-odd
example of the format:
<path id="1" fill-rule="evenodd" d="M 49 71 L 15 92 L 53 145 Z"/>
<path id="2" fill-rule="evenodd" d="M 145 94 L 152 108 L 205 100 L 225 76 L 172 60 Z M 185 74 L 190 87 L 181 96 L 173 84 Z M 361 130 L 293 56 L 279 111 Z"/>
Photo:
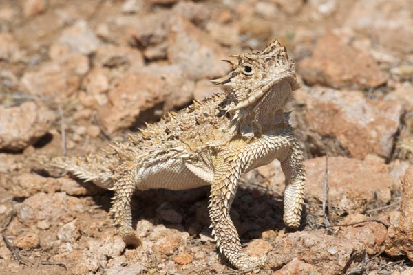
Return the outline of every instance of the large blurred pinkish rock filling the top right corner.
<path id="1" fill-rule="evenodd" d="M 346 26 L 372 37 L 374 41 L 399 51 L 412 54 L 413 25 L 410 0 L 361 0 L 348 14 Z"/>

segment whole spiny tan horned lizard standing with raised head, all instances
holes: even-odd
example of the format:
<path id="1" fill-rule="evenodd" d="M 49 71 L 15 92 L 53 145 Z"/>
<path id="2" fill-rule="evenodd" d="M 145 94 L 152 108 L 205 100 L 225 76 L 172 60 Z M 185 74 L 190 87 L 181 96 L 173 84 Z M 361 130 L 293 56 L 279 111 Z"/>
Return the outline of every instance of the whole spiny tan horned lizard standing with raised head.
<path id="1" fill-rule="evenodd" d="M 265 259 L 242 252 L 229 210 L 242 175 L 279 159 L 286 177 L 284 223 L 299 227 L 304 157 L 288 124 L 289 113 L 283 113 L 299 85 L 293 62 L 278 41 L 262 52 L 231 57 L 231 72 L 213 80 L 226 92 L 168 113 L 97 155 L 55 157 L 43 159 L 43 164 L 114 190 L 110 214 L 118 234 L 134 245 L 139 243 L 131 220 L 134 190 L 211 185 L 209 217 L 218 249 L 239 269 L 262 266 Z"/>

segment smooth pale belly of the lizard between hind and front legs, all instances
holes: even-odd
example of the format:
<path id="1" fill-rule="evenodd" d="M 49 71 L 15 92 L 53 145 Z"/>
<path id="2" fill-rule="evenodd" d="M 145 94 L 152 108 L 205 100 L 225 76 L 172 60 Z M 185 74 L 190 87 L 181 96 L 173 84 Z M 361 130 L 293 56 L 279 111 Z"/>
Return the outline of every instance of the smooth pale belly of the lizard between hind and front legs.
<path id="1" fill-rule="evenodd" d="M 139 190 L 165 188 L 187 190 L 211 184 L 213 170 L 201 163 L 187 160 L 169 159 L 149 167 L 138 169 L 136 182 Z"/>

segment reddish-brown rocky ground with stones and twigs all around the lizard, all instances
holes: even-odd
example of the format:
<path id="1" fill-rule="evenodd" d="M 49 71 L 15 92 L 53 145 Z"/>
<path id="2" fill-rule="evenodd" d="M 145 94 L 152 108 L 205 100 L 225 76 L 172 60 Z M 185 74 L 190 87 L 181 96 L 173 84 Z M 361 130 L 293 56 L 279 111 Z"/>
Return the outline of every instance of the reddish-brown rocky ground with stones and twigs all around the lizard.
<path id="1" fill-rule="evenodd" d="M 279 164 L 253 170 L 231 210 L 244 249 L 267 255 L 259 274 L 412 274 L 412 25 L 410 0 L 0 1 L 0 273 L 237 274 L 208 188 L 136 194 L 143 243 L 126 248 L 112 192 L 30 159 L 123 140 L 278 38 L 304 85 L 289 108 L 306 213 L 288 230 Z"/>

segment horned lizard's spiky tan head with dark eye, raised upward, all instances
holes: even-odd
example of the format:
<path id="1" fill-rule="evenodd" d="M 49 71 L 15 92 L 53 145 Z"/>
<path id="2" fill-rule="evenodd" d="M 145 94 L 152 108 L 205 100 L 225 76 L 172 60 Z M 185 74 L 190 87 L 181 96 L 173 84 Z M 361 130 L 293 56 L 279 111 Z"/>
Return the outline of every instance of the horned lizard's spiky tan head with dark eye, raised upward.
<path id="1" fill-rule="evenodd" d="M 291 92 L 299 88 L 294 63 L 277 40 L 261 52 L 230 57 L 235 58 L 226 61 L 232 66 L 231 72 L 213 80 L 216 85 L 228 87 L 231 104 L 225 108 L 227 112 L 255 107 L 269 98 L 273 110 L 281 109 L 290 100 Z"/>

